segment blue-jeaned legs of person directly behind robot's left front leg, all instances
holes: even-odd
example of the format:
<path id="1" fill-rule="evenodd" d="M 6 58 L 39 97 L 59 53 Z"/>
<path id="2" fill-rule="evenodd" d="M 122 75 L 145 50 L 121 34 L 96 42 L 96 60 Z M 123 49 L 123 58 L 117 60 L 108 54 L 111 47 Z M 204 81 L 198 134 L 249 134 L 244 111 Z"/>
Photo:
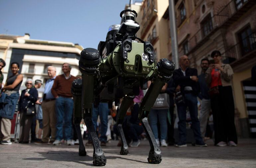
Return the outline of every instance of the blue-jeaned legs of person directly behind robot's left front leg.
<path id="1" fill-rule="evenodd" d="M 94 129 L 97 129 L 97 119 L 98 116 L 100 118 L 100 145 L 101 146 L 106 146 L 107 142 L 107 125 L 108 125 L 108 114 L 109 114 L 109 109 L 108 109 L 108 103 L 99 103 L 98 106 L 93 105 L 92 108 L 92 123 L 94 126 Z M 92 145 L 91 138 L 88 137 L 88 142 L 85 145 Z"/>

